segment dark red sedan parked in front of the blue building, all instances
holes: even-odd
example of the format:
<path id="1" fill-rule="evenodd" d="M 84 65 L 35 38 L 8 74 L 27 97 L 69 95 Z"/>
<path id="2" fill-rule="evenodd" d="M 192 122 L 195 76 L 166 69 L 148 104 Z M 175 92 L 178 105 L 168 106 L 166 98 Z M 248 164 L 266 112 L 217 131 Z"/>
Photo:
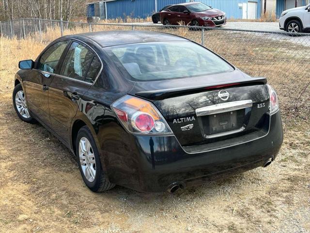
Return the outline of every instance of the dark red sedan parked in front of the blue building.
<path id="1" fill-rule="evenodd" d="M 201 2 L 188 2 L 172 5 L 160 12 L 164 25 L 178 25 L 184 22 L 191 26 L 218 27 L 226 24 L 226 14 Z"/>

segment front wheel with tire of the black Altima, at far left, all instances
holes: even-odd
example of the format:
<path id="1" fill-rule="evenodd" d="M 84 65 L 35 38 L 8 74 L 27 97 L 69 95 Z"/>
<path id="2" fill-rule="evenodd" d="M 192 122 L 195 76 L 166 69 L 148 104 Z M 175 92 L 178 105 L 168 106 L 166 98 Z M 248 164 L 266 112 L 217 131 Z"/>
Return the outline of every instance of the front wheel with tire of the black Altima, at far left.
<path id="1" fill-rule="evenodd" d="M 24 90 L 22 85 L 19 83 L 15 86 L 13 90 L 13 105 L 17 113 L 17 116 L 27 122 L 27 123 L 36 123 L 36 119 L 31 116 L 30 110 L 27 106 L 27 101 L 25 98 Z"/>

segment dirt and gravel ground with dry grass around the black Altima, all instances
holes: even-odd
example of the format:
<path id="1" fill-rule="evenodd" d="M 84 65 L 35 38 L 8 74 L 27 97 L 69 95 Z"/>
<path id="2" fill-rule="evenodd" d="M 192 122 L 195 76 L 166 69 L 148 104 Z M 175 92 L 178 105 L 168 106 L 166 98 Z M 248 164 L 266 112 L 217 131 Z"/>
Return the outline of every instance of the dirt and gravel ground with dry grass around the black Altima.
<path id="1" fill-rule="evenodd" d="M 286 108 L 288 87 L 279 89 L 279 80 L 270 81 L 282 100 L 284 143 L 270 166 L 174 194 L 118 186 L 98 194 L 84 185 L 68 149 L 14 111 L 12 64 L 35 59 L 44 45 L 26 50 L 31 42 L 17 41 L 13 50 L 7 43 L 0 48 L 1 233 L 310 232 L 309 108 Z"/>

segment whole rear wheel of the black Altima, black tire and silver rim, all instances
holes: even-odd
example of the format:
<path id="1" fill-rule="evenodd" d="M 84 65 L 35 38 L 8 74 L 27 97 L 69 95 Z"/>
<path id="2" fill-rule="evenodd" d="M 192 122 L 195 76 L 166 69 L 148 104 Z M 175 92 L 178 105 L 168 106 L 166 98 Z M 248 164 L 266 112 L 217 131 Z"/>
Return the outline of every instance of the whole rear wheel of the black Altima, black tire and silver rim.
<path id="1" fill-rule="evenodd" d="M 78 131 L 76 154 L 83 181 L 90 190 L 103 192 L 115 186 L 105 176 L 93 135 L 87 126 Z"/>

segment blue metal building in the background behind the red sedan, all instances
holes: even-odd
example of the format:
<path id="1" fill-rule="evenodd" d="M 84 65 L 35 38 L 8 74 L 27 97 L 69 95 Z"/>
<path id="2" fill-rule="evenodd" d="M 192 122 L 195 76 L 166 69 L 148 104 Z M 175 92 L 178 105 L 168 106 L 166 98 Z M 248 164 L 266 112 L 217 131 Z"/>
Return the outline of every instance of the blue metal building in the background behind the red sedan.
<path id="1" fill-rule="evenodd" d="M 179 4 L 190 0 L 101 0 L 88 4 L 87 17 L 100 19 L 151 16 L 155 11 L 168 4 Z M 259 19 L 264 11 L 264 5 L 274 8 L 277 17 L 290 7 L 291 1 L 296 6 L 305 5 L 309 0 L 195 0 L 224 11 L 228 18 Z"/>

